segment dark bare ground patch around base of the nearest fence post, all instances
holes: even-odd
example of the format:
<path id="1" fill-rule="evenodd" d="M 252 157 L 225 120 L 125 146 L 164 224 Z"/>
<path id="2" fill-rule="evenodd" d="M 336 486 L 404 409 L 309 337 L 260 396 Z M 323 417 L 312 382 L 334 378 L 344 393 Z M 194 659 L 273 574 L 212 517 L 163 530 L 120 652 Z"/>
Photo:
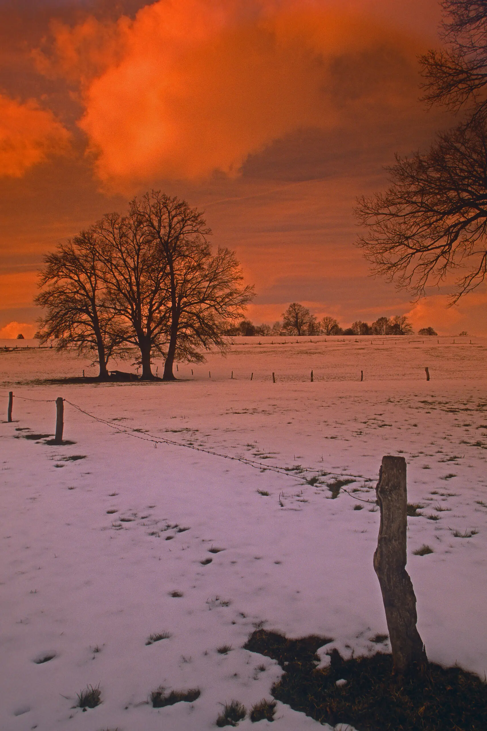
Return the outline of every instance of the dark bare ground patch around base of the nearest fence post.
<path id="1" fill-rule="evenodd" d="M 331 651 L 330 667 L 315 669 L 315 654 L 329 640 L 259 629 L 245 649 L 272 657 L 285 673 L 272 695 L 320 723 L 350 724 L 358 731 L 482 731 L 487 685 L 459 667 L 429 664 L 422 675 L 392 675 L 392 656 L 343 660 Z M 287 664 L 285 664 L 287 663 Z M 345 684 L 337 686 L 337 681 Z"/>

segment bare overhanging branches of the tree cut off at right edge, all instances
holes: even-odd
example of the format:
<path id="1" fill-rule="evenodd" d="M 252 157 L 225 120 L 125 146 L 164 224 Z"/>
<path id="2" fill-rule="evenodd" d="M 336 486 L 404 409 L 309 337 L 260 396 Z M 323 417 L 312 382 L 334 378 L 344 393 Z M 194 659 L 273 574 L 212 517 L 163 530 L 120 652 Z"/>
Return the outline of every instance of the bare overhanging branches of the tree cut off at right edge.
<path id="1" fill-rule="evenodd" d="M 425 99 L 463 109 L 467 118 L 442 132 L 425 154 L 396 156 L 384 194 L 358 200 L 367 235 L 358 246 L 372 271 L 418 297 L 458 272 L 452 303 L 487 274 L 487 4 L 444 0 L 445 50 L 421 59 Z"/>

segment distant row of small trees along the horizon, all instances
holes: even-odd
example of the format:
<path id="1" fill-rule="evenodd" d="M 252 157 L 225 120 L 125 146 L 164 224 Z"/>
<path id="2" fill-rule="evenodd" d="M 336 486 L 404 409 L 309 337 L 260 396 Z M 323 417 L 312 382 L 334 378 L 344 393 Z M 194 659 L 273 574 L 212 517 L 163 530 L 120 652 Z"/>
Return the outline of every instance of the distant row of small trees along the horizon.
<path id="1" fill-rule="evenodd" d="M 340 327 L 337 319 L 326 315 L 318 320 L 307 307 L 299 302 L 291 302 L 285 312 L 283 321 L 277 320 L 274 325 L 253 325 L 245 319 L 238 325 L 229 327 L 226 335 L 229 336 L 317 336 L 317 335 L 412 335 L 413 327 L 405 315 L 394 317 L 379 317 L 370 325 L 368 322 L 356 320 L 351 327 Z M 423 327 L 419 335 L 436 335 L 432 327 Z"/>

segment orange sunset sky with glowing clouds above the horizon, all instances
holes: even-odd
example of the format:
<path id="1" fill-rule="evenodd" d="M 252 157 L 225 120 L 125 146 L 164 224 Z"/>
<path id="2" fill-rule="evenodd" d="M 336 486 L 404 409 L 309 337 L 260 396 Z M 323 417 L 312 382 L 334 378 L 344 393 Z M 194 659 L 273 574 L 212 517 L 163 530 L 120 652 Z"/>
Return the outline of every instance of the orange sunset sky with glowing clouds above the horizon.
<path id="1" fill-rule="evenodd" d="M 353 246 L 356 196 L 453 123 L 418 101 L 439 21 L 437 0 L 0 0 L 0 337 L 34 333 L 45 252 L 150 188 L 237 251 L 254 322 L 296 300 L 487 334 L 486 287 L 412 303 Z"/>

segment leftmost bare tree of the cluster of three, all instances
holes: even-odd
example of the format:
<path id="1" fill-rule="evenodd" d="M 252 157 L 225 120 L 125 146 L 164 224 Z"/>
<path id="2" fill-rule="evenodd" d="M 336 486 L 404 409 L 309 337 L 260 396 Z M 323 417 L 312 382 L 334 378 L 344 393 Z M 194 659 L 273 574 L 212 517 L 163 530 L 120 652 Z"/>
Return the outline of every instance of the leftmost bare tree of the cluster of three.
<path id="1" fill-rule="evenodd" d="M 37 337 L 57 341 L 58 350 L 96 352 L 99 378 L 108 377 L 110 357 L 124 357 L 123 333 L 108 305 L 102 277 L 99 242 L 91 231 L 82 231 L 57 251 L 44 257 L 39 273 L 43 291 L 34 302 L 47 309 L 39 319 Z"/>

